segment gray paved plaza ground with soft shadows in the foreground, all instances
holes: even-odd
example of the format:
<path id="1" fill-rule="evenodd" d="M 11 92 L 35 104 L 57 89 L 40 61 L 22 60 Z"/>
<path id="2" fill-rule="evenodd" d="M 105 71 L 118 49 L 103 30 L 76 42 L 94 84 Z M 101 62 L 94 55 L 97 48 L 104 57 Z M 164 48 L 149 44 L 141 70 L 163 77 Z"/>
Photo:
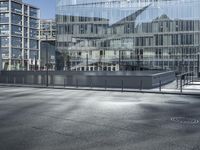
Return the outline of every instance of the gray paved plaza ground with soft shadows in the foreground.
<path id="1" fill-rule="evenodd" d="M 200 97 L 0 86 L 0 150 L 199 150 Z"/>

